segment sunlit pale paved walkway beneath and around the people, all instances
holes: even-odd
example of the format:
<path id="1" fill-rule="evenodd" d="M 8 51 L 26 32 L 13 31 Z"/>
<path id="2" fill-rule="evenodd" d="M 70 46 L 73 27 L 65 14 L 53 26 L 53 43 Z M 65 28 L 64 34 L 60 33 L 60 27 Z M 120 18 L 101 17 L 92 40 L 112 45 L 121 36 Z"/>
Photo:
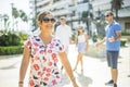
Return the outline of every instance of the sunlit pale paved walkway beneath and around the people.
<path id="1" fill-rule="evenodd" d="M 75 46 L 70 45 L 68 59 L 72 67 L 75 65 L 76 58 L 77 52 Z M 0 87 L 17 87 L 21 60 L 22 54 L 0 57 Z M 118 87 L 130 87 L 130 77 L 128 77 L 128 75 L 130 75 L 130 47 L 121 48 L 118 65 Z M 104 85 L 104 83 L 110 77 L 105 58 L 83 57 L 83 74 L 80 72 L 80 66 L 78 66 L 78 70 L 74 72 L 79 87 L 110 87 Z M 28 76 L 25 78 L 25 87 L 27 87 L 27 77 Z M 72 87 L 64 71 L 63 79 L 65 85 L 64 87 Z"/>

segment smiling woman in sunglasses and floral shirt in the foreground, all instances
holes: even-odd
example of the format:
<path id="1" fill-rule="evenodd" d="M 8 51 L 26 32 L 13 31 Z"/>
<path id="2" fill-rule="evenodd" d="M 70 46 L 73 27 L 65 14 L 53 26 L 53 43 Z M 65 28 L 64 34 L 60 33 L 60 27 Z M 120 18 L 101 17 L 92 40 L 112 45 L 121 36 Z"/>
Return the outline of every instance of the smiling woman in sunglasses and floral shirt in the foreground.
<path id="1" fill-rule="evenodd" d="M 18 87 L 23 87 L 24 78 L 30 62 L 29 87 L 62 87 L 62 77 L 57 67 L 58 59 L 66 70 L 74 87 L 78 87 L 70 63 L 58 39 L 52 36 L 55 18 L 50 11 L 38 15 L 41 33 L 30 36 L 25 41 L 23 61 L 20 69 Z"/>

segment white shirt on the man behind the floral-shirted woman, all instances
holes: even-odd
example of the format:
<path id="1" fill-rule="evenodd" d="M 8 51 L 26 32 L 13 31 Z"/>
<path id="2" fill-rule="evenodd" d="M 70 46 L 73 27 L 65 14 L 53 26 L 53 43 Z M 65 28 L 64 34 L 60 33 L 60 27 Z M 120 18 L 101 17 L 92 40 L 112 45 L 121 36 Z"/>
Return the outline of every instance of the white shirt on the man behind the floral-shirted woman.
<path id="1" fill-rule="evenodd" d="M 61 40 L 61 42 L 65 46 L 68 47 L 69 45 L 69 38 L 72 37 L 72 29 L 68 25 L 60 25 L 56 27 L 56 38 Z"/>

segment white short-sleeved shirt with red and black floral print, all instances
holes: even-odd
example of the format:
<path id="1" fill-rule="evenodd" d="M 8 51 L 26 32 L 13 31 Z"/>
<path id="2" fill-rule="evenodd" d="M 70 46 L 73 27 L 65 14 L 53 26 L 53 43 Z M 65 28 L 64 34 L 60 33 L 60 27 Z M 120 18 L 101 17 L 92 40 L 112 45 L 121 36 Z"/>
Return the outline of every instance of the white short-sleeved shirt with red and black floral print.
<path id="1" fill-rule="evenodd" d="M 56 38 L 52 38 L 47 46 L 39 36 L 31 36 L 25 42 L 30 49 L 29 87 L 61 87 L 61 74 L 57 67 L 58 52 L 64 46 Z"/>

